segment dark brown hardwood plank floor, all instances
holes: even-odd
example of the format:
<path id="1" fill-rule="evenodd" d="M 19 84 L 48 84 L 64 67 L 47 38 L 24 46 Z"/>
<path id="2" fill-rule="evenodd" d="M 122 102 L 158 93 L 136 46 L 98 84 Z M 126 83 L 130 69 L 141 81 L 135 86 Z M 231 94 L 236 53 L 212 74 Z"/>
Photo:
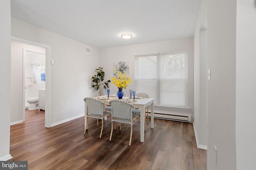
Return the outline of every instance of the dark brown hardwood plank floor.
<path id="1" fill-rule="evenodd" d="M 102 138 L 96 119 L 84 117 L 51 128 L 44 127 L 44 111 L 27 111 L 26 121 L 11 126 L 11 160 L 27 160 L 29 170 L 206 170 L 206 150 L 196 147 L 192 123 L 155 119 L 146 124 L 140 143 L 140 121 L 113 131 L 110 116 L 104 121 Z"/>

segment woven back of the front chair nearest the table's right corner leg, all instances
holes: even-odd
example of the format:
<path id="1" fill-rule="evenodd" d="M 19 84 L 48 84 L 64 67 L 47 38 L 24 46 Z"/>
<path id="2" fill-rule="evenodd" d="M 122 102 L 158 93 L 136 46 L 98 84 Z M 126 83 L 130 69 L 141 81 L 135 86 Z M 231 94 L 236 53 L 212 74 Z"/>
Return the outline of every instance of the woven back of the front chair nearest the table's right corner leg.
<path id="1" fill-rule="evenodd" d="M 118 118 L 132 119 L 132 108 L 134 105 L 125 102 L 124 100 L 111 100 L 112 116 Z"/>

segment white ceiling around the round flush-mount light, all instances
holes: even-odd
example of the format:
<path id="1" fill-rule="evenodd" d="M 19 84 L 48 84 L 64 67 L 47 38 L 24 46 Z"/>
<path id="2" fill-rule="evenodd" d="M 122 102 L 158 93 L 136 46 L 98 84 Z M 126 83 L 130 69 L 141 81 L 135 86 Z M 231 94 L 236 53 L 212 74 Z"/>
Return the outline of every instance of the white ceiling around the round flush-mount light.
<path id="1" fill-rule="evenodd" d="M 200 0 L 11 0 L 11 16 L 102 49 L 193 37 L 199 7 Z"/>

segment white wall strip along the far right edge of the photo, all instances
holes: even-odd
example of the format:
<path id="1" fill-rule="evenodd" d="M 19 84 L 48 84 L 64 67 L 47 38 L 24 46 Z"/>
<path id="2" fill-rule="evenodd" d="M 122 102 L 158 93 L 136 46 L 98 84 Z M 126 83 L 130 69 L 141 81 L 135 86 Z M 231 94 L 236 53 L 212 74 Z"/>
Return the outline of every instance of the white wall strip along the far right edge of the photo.
<path id="1" fill-rule="evenodd" d="M 256 2 L 238 0 L 236 19 L 236 168 L 256 167 Z"/>

